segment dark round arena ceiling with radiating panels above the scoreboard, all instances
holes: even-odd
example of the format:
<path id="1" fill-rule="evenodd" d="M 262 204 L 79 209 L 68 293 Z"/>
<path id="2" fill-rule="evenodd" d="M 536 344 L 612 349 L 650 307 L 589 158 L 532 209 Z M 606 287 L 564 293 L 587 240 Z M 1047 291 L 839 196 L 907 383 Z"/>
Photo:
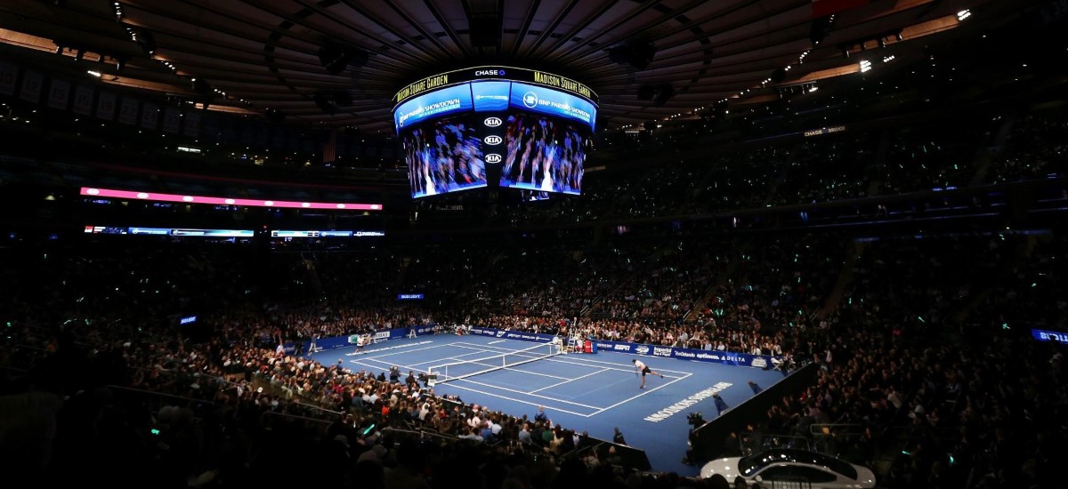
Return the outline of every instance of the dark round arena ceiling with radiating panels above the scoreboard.
<path id="1" fill-rule="evenodd" d="M 611 130 L 833 91 L 1035 3 L 0 0 L 0 59 L 70 77 L 97 72 L 99 83 L 209 110 L 367 133 L 392 132 L 392 97 L 417 79 L 522 66 L 588 85 L 599 127 Z M 324 47 L 330 59 L 345 54 L 335 73 Z"/>

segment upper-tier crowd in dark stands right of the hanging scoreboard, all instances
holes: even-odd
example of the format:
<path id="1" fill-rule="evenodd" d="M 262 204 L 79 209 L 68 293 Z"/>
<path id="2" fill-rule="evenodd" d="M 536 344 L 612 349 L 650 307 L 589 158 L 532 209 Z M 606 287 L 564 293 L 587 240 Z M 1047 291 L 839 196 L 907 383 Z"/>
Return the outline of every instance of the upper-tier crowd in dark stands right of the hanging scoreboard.
<path id="1" fill-rule="evenodd" d="M 581 200 L 503 205 L 491 223 L 664 218 L 839 201 L 860 205 L 866 199 L 1047 178 L 1064 173 L 1065 152 L 1035 142 L 1050 140 L 1063 126 L 1062 114 L 1046 111 L 731 143 L 700 156 L 664 151 L 655 165 L 590 172 Z M 885 217 L 885 207 L 870 207 Z"/>

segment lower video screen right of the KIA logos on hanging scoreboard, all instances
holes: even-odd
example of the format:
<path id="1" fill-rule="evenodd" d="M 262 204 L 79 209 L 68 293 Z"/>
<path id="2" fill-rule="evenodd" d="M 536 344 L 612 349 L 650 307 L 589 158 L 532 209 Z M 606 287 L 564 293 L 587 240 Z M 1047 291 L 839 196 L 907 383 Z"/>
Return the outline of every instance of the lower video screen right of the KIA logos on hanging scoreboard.
<path id="1" fill-rule="evenodd" d="M 509 115 L 501 187 L 579 194 L 586 156 L 579 127 L 534 113 Z"/>

